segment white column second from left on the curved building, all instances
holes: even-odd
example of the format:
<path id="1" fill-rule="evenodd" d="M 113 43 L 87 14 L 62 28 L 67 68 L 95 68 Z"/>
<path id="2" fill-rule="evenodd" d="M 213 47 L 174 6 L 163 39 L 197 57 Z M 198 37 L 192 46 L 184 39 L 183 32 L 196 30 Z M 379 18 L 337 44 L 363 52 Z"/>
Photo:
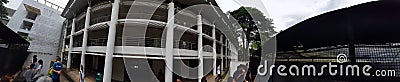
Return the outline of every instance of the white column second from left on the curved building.
<path id="1" fill-rule="evenodd" d="M 85 18 L 85 28 L 83 28 L 83 41 L 82 41 L 82 55 L 81 55 L 81 65 L 83 66 L 83 70 L 85 66 L 85 55 L 86 55 L 86 49 L 87 49 L 87 39 L 88 39 L 88 28 L 90 24 L 90 9 L 91 7 L 89 6 L 86 10 L 86 18 Z M 80 66 L 79 66 L 80 68 Z"/>

